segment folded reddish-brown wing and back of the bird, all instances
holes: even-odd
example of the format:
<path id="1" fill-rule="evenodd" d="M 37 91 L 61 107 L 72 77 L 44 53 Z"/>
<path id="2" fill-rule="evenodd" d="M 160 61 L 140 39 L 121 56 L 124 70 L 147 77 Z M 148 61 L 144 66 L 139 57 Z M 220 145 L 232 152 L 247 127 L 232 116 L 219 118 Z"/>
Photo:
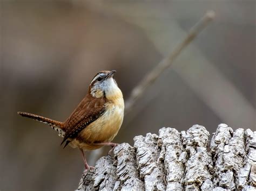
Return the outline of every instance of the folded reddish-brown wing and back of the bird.
<path id="1" fill-rule="evenodd" d="M 87 94 L 85 98 L 79 103 L 75 111 L 70 117 L 66 119 L 65 137 L 62 144 L 66 142 L 65 146 L 69 144 L 68 138 L 77 137 L 78 133 L 82 131 L 90 123 L 102 116 L 105 112 L 106 98 L 95 98 Z M 65 147 L 64 146 L 64 147 Z"/>

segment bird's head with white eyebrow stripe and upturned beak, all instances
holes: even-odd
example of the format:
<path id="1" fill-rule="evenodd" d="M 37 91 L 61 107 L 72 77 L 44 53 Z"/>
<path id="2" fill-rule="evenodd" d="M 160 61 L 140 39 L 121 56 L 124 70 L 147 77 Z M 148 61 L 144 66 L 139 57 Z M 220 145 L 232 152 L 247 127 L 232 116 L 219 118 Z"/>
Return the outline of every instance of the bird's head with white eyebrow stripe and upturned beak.
<path id="1" fill-rule="evenodd" d="M 116 73 L 116 70 L 105 70 L 96 74 L 90 83 L 89 93 L 93 97 L 106 97 L 108 100 L 118 98 L 119 96 L 123 98 L 117 82 L 113 79 L 114 73 Z"/>

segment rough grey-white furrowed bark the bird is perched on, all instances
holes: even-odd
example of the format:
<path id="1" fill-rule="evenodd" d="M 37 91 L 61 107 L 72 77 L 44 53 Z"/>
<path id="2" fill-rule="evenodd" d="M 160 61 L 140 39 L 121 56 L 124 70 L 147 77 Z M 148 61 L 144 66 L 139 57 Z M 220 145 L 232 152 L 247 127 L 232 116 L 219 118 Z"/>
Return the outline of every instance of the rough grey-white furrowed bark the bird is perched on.
<path id="1" fill-rule="evenodd" d="M 256 131 L 220 124 L 134 137 L 84 172 L 77 190 L 256 190 Z"/>

